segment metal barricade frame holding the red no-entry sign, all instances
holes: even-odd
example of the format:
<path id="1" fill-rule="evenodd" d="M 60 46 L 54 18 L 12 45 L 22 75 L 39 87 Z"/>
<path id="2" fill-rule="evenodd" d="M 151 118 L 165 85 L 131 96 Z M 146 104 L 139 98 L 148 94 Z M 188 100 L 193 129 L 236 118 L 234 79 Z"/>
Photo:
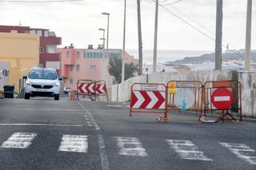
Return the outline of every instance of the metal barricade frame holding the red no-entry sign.
<path id="1" fill-rule="evenodd" d="M 237 113 L 242 121 L 242 92 L 239 81 L 206 81 L 203 88 L 204 114 L 207 111 L 221 111 L 217 121 L 236 121 L 233 113 Z M 200 117 L 202 114 L 200 114 Z"/>

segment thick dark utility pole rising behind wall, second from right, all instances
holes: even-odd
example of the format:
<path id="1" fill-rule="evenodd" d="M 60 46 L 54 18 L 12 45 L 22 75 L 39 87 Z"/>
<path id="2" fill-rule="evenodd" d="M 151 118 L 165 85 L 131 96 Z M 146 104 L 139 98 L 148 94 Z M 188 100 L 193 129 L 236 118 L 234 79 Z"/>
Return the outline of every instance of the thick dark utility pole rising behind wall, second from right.
<path id="1" fill-rule="evenodd" d="M 215 69 L 222 69 L 222 19 L 223 1 L 217 0 L 216 10 L 216 38 L 215 38 Z"/>

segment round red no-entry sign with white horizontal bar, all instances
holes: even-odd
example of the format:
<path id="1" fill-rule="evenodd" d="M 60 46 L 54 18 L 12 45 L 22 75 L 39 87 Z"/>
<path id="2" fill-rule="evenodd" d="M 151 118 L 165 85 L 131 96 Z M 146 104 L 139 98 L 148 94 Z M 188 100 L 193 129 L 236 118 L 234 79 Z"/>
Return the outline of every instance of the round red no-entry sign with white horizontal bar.
<path id="1" fill-rule="evenodd" d="M 211 103 L 217 109 L 229 109 L 234 100 L 233 94 L 229 89 L 216 89 L 210 97 Z"/>

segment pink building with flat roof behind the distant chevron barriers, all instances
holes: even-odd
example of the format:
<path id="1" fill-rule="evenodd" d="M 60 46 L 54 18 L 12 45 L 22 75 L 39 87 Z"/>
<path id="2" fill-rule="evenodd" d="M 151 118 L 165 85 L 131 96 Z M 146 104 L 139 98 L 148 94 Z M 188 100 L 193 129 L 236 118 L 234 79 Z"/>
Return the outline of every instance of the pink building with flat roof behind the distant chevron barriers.
<path id="1" fill-rule="evenodd" d="M 64 77 L 65 87 L 76 89 L 78 79 L 105 80 L 106 85 L 114 84 L 114 77 L 108 72 L 109 58 L 121 57 L 121 49 L 109 49 L 106 57 L 106 49 L 75 49 L 71 44 L 59 49 L 61 56 L 61 76 Z M 125 54 L 126 63 L 138 60 L 128 53 Z"/>

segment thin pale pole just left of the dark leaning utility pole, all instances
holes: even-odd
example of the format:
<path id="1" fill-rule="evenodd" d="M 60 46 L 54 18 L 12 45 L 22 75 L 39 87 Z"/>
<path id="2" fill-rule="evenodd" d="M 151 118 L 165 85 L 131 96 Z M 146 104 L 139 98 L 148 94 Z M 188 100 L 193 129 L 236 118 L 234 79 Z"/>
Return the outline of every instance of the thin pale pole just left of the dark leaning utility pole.
<path id="1" fill-rule="evenodd" d="M 122 39 L 122 83 L 125 81 L 125 53 L 126 53 L 126 0 L 123 18 L 123 39 Z"/>

